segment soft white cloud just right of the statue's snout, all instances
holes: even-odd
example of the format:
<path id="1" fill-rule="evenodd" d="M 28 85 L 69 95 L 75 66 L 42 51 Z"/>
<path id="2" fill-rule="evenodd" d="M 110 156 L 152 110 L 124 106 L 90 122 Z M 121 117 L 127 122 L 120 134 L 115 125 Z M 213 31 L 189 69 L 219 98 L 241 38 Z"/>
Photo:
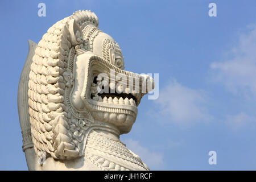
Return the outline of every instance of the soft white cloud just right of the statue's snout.
<path id="1" fill-rule="evenodd" d="M 187 88 L 172 79 L 160 90 L 158 100 L 160 114 L 166 119 L 181 125 L 209 121 L 212 117 L 207 111 L 207 97 L 202 90 Z"/>

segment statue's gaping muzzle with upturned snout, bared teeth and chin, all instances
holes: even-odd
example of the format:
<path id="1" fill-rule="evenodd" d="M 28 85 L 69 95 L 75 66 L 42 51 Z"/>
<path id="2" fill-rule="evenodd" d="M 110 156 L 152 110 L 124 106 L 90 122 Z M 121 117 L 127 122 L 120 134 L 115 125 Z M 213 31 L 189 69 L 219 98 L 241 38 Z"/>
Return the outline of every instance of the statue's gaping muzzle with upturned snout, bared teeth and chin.
<path id="1" fill-rule="evenodd" d="M 150 91 L 143 91 L 143 83 L 149 77 L 119 69 L 98 56 L 84 56 L 77 61 L 83 67 L 77 69 L 75 75 L 84 78 L 84 86 L 79 90 L 82 82 L 77 82 L 73 89 L 73 104 L 81 110 L 85 106 L 96 121 L 112 123 L 121 134 L 128 133 L 137 117 L 141 98 Z M 89 60 L 84 61 L 86 59 Z M 83 101 L 82 106 L 79 98 Z"/>

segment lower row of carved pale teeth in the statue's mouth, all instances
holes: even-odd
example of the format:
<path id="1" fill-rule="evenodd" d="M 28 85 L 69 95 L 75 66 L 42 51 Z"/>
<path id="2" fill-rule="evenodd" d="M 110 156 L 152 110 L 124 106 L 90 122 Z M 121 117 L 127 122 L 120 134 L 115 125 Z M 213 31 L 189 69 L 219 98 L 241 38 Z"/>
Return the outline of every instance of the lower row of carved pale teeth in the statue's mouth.
<path id="1" fill-rule="evenodd" d="M 129 98 L 125 98 L 125 99 L 123 99 L 122 97 L 120 97 L 119 99 L 117 98 L 117 97 L 114 97 L 114 98 L 112 98 L 112 97 L 104 97 L 103 99 L 102 99 L 102 97 L 101 96 L 98 96 L 97 94 L 93 97 L 93 100 L 94 101 L 98 101 L 98 102 L 103 102 L 103 103 L 109 103 L 109 104 L 125 104 L 125 105 L 136 105 L 136 103 L 135 103 L 135 101 L 133 100 L 133 98 L 130 98 L 130 100 L 129 100 Z"/>

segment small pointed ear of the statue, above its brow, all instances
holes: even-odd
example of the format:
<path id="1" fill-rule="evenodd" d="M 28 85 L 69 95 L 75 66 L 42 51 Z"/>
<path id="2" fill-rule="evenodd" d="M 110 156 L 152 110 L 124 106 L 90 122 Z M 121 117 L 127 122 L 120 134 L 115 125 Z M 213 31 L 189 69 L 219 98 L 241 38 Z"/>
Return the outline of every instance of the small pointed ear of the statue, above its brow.
<path id="1" fill-rule="evenodd" d="M 79 26 L 79 24 L 77 24 L 75 22 L 75 19 L 72 19 L 69 21 L 69 33 L 71 35 L 71 43 L 72 43 L 72 46 L 76 46 L 78 44 L 81 44 L 82 43 L 82 40 L 83 40 L 83 35 L 82 35 L 82 30 Z"/>

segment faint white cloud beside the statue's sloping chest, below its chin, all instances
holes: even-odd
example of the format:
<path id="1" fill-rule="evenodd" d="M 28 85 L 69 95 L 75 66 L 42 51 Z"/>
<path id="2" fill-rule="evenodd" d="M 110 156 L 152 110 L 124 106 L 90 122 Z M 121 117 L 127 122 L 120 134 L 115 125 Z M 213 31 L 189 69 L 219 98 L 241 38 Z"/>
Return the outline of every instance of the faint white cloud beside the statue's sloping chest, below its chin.
<path id="1" fill-rule="evenodd" d="M 126 144 L 127 148 L 137 154 L 150 169 L 154 170 L 163 166 L 162 154 L 148 151 L 146 147 L 141 146 L 136 140 L 126 139 L 123 142 Z"/>

